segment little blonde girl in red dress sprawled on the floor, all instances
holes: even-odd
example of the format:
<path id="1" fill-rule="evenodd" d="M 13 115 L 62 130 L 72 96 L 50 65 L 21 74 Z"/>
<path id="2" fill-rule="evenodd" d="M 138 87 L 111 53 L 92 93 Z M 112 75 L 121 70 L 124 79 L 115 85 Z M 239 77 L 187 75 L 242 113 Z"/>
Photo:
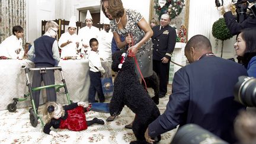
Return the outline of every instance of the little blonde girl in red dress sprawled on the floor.
<path id="1" fill-rule="evenodd" d="M 80 131 L 87 129 L 87 126 L 91 126 L 94 123 L 104 124 L 103 120 L 97 119 L 96 117 L 87 121 L 85 119 L 85 112 L 88 111 L 88 108 L 84 106 L 84 102 L 64 106 L 53 101 L 46 103 L 43 110 L 43 120 L 45 123 L 43 132 L 59 137 L 60 135 L 58 133 L 50 130 L 52 126 L 55 129 Z"/>

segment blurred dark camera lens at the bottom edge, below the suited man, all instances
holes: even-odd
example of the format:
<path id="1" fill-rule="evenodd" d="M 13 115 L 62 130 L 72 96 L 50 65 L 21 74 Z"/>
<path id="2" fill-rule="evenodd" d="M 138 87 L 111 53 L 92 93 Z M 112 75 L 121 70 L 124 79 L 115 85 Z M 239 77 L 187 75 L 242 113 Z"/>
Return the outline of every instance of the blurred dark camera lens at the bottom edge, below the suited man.
<path id="1" fill-rule="evenodd" d="M 210 143 L 210 144 L 228 144 L 219 137 L 213 135 L 196 124 L 185 124 L 180 127 L 172 139 L 171 144 L 194 144 L 194 143 Z"/>

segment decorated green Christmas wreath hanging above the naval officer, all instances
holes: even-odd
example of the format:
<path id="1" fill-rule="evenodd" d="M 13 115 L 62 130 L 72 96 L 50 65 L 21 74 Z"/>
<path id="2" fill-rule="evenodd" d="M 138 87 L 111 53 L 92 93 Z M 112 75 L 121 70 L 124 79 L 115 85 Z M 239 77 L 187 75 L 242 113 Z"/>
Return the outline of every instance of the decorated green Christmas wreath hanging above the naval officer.
<path id="1" fill-rule="evenodd" d="M 180 15 L 183 7 L 185 6 L 184 0 L 166 0 L 165 5 L 161 8 L 158 3 L 159 0 L 154 1 L 154 6 L 156 14 L 161 17 L 162 14 L 169 14 L 171 19 Z"/>

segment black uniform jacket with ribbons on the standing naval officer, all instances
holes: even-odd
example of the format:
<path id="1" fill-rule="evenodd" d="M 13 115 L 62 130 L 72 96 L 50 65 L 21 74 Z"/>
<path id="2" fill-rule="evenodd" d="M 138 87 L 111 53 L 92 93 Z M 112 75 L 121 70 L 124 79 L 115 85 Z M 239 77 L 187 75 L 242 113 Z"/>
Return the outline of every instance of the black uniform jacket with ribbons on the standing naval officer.
<path id="1" fill-rule="evenodd" d="M 176 43 L 176 31 L 171 26 L 167 25 L 160 29 L 160 25 L 152 28 L 153 36 L 153 60 L 161 60 L 162 57 L 171 59 Z"/>

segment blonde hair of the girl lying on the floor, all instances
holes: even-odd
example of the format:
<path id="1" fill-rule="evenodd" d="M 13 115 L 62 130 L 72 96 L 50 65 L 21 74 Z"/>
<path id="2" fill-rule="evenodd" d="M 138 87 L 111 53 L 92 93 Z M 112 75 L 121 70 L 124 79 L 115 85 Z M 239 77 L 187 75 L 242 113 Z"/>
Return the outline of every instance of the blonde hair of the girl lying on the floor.
<path id="1" fill-rule="evenodd" d="M 52 112 L 49 112 L 48 109 L 49 108 L 53 108 Z M 55 112 L 59 111 L 60 109 L 60 113 L 62 113 L 62 116 L 65 115 L 65 110 L 63 109 L 61 104 L 57 104 L 56 102 L 50 101 L 48 103 L 45 104 L 45 107 L 43 108 L 43 121 L 44 123 L 50 123 L 50 120 L 53 119 L 53 116 L 55 116 Z"/>

